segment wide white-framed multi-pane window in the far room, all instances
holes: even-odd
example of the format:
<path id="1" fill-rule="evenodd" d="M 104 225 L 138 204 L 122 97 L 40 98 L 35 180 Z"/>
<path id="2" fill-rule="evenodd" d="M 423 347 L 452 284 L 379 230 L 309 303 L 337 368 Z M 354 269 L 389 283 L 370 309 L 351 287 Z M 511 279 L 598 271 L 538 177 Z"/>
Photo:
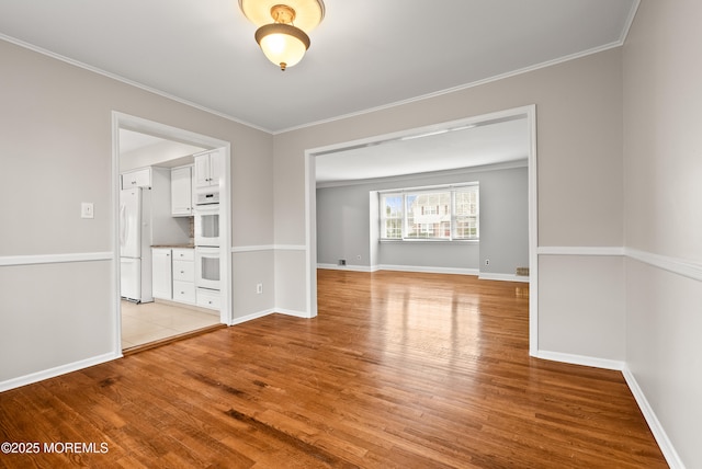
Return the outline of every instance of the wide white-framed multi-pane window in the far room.
<path id="1" fill-rule="evenodd" d="M 478 184 L 381 193 L 381 238 L 477 240 Z"/>

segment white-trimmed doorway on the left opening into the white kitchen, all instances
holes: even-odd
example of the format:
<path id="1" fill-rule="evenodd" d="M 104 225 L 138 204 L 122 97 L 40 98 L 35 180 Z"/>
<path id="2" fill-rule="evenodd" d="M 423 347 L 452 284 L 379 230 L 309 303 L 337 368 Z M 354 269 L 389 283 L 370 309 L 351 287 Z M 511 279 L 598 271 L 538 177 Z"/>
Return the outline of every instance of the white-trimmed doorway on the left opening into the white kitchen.
<path id="1" fill-rule="evenodd" d="M 229 144 L 116 112 L 112 137 L 114 255 L 120 261 L 115 262 L 115 348 L 152 346 L 230 324 Z M 203 188 L 195 180 L 194 165 L 210 159 L 217 162 L 217 178 L 208 178 L 211 187 Z M 199 170 L 202 172 L 202 168 Z M 147 182 L 139 179 L 146 176 Z M 172 182 L 178 185 L 174 192 Z M 181 194 L 181 186 L 190 194 L 179 205 L 181 197 L 173 194 Z M 203 195 L 202 207 L 207 204 L 212 211 L 213 193 L 218 194 L 217 245 L 196 248 L 199 196 Z M 129 197 L 139 202 L 133 203 Z M 129 237 L 139 243 L 136 252 L 128 248 Z M 197 275 L 203 271 L 196 268 L 201 249 L 208 253 L 202 277 L 211 284 L 217 279 L 207 288 L 197 287 Z M 212 265 L 218 267 L 217 272 Z"/>

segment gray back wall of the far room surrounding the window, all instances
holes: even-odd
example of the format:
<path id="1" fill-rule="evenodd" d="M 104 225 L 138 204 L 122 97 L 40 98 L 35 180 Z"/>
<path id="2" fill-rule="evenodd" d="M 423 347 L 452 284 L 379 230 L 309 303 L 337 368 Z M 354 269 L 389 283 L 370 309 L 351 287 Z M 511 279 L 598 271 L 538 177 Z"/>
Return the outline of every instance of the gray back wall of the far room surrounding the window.
<path id="1" fill-rule="evenodd" d="M 388 178 L 352 185 L 317 188 L 317 262 L 327 267 L 346 259 L 349 268 L 432 270 L 510 276 L 529 266 L 528 170 L 473 169 L 453 174 Z M 369 193 L 404 187 L 479 182 L 480 241 L 378 242 L 377 196 Z M 377 244 L 377 261 L 371 250 Z M 360 256 L 360 259 L 359 259 Z M 485 260 L 489 259 L 489 265 Z"/>

